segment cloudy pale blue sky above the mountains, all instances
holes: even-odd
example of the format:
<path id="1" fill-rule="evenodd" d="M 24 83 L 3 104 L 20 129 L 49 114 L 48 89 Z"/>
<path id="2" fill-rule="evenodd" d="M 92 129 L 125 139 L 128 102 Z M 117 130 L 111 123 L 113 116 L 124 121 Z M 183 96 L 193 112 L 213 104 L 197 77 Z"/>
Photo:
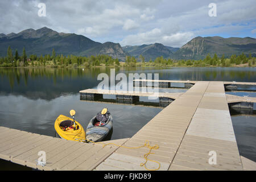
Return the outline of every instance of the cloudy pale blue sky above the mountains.
<path id="1" fill-rule="evenodd" d="M 100 43 L 181 47 L 197 36 L 255 38 L 255 10 L 255 0 L 1 0 L 0 33 L 48 27 Z"/>

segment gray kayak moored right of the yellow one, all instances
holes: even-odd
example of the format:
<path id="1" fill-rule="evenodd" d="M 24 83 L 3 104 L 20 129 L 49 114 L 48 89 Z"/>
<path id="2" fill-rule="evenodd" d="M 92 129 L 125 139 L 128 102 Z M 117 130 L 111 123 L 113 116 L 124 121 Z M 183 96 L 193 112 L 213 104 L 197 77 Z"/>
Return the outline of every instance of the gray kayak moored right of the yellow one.
<path id="1" fill-rule="evenodd" d="M 108 121 L 101 126 L 95 126 L 98 123 L 96 116 L 90 119 L 90 122 L 86 128 L 86 139 L 93 142 L 102 141 L 113 127 L 113 118 L 112 115 L 109 115 Z"/>

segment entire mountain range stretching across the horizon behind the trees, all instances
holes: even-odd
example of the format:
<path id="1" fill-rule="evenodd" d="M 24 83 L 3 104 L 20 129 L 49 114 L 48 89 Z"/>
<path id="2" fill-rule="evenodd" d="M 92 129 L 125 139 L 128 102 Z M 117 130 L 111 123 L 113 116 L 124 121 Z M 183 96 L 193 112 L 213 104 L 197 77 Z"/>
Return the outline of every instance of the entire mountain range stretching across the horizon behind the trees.
<path id="1" fill-rule="evenodd" d="M 141 46 L 124 46 L 119 43 L 106 42 L 99 43 L 86 38 L 83 35 L 65 34 L 56 32 L 50 28 L 43 27 L 38 30 L 32 28 L 23 30 L 18 34 L 0 34 L 0 56 L 6 56 L 8 46 L 18 49 L 19 54 L 25 47 L 27 55 L 36 54 L 38 56 L 51 54 L 55 49 L 57 54 L 91 56 L 109 55 L 124 61 L 126 56 L 139 57 L 142 55 L 146 61 L 163 56 L 171 59 L 204 59 L 208 53 L 213 56 L 230 56 L 232 54 L 246 55 L 251 53 L 256 56 L 255 38 L 221 38 L 220 36 L 193 38 L 181 48 L 164 46 L 160 43 L 143 44 Z"/>

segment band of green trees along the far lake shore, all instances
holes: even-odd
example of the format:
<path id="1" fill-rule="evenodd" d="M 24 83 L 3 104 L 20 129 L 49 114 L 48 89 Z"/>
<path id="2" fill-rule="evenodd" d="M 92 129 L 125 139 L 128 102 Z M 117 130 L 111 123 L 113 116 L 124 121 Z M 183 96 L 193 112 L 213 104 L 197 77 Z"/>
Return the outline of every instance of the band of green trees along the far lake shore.
<path id="1" fill-rule="evenodd" d="M 18 50 L 13 51 L 9 46 L 7 49 L 7 55 L 0 57 L 0 67 L 28 67 L 28 66 L 51 66 L 51 67 L 94 67 L 105 65 L 108 66 L 121 66 L 121 67 L 230 67 L 234 65 L 247 64 L 249 67 L 255 65 L 255 57 L 251 56 L 251 53 L 246 56 L 244 53 L 241 55 L 232 55 L 225 57 L 222 55 L 218 57 L 215 53 L 213 57 L 208 55 L 202 60 L 174 60 L 164 59 L 163 56 L 156 57 L 153 61 L 146 62 L 145 57 L 139 55 L 138 58 L 134 56 L 126 56 L 125 63 L 120 64 L 118 59 L 114 59 L 109 55 L 97 55 L 97 56 L 75 56 L 75 55 L 57 55 L 55 49 L 52 49 L 51 55 L 30 55 L 27 56 L 26 49 L 23 48 L 22 55 L 19 55 Z"/>

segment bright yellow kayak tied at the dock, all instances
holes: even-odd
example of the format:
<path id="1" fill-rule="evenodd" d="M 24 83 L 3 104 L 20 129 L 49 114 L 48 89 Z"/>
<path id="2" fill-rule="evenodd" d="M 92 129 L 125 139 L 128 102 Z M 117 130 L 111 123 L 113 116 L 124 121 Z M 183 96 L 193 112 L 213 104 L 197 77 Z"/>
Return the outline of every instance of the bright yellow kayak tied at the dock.
<path id="1" fill-rule="evenodd" d="M 65 115 L 59 115 L 55 121 L 55 130 L 61 138 L 73 141 L 84 142 L 85 140 L 85 131 L 82 128 L 82 125 L 75 121 L 75 125 L 72 118 L 66 117 Z"/>

